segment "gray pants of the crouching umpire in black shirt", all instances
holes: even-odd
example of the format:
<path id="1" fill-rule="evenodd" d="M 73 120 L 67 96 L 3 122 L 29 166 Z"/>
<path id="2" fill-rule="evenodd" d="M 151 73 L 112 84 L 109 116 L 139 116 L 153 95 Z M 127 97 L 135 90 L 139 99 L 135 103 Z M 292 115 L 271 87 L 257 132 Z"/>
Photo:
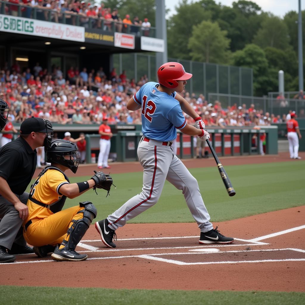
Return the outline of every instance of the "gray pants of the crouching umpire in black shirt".
<path id="1" fill-rule="evenodd" d="M 15 194 L 16 195 L 16 194 Z M 19 200 L 27 204 L 29 193 L 24 192 L 22 195 L 16 195 Z M 19 212 L 15 206 L 0 196 L 0 246 L 11 249 L 13 242 L 25 246 L 27 243 L 23 238 L 23 220 L 19 217 Z"/>

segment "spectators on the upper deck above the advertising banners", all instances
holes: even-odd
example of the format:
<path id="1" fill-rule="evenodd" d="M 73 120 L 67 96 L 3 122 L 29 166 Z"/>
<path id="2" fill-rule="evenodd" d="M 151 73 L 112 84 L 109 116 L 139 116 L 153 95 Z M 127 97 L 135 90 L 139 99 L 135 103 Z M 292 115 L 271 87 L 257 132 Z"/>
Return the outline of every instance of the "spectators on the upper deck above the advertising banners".
<path id="1" fill-rule="evenodd" d="M 134 16 L 131 20 L 130 15 L 125 15 L 122 20 L 115 8 L 105 8 L 104 3 L 89 3 L 80 0 L 5 0 L 5 13 L 18 16 L 18 5 L 21 7 L 21 16 L 25 18 L 34 17 L 34 8 L 36 10 L 36 19 L 79 25 L 82 27 L 99 28 L 102 30 L 115 30 L 117 32 L 130 32 L 139 35 L 149 36 L 151 27 L 148 18 L 144 21 Z M 14 5 L 15 4 L 15 5 Z M 0 4 L 1 5 L 1 4 Z M 89 24 L 90 23 L 90 24 Z"/>

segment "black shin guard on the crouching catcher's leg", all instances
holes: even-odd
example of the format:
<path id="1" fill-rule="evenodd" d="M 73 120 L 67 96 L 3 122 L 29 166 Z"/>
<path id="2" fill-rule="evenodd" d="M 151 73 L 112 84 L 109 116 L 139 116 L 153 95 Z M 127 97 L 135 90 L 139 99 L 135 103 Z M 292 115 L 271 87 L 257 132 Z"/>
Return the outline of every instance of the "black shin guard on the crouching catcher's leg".
<path id="1" fill-rule="evenodd" d="M 80 203 L 81 205 L 81 203 Z M 90 227 L 92 220 L 96 217 L 96 208 L 91 202 L 83 203 L 84 210 L 78 213 L 83 213 L 83 218 L 79 220 L 72 219 L 72 226 L 68 229 L 67 233 L 70 235 L 69 240 L 63 240 L 62 245 L 67 249 L 75 249 L 77 244 L 81 241 L 86 231 Z"/>

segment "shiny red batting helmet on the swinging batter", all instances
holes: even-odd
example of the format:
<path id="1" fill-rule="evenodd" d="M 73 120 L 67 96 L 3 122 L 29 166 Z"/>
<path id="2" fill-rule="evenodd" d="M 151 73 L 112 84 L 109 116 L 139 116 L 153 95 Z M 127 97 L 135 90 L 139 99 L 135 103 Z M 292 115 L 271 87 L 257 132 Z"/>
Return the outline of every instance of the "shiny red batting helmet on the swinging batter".
<path id="1" fill-rule="evenodd" d="M 186 81 L 193 76 L 193 74 L 185 72 L 181 63 L 174 62 L 164 63 L 158 69 L 157 74 L 159 84 L 167 88 L 176 88 L 177 81 Z"/>

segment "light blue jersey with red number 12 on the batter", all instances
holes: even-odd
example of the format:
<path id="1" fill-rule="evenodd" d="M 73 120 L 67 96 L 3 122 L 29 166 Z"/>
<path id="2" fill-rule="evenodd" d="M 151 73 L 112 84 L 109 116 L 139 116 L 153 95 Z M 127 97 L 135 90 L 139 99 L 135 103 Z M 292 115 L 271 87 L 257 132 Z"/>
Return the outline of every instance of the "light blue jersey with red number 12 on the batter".
<path id="1" fill-rule="evenodd" d="M 159 91 L 158 83 L 148 82 L 133 96 L 142 109 L 142 133 L 156 141 L 172 141 L 177 137 L 176 129 L 185 127 L 186 120 L 176 92 L 168 95 Z"/>

